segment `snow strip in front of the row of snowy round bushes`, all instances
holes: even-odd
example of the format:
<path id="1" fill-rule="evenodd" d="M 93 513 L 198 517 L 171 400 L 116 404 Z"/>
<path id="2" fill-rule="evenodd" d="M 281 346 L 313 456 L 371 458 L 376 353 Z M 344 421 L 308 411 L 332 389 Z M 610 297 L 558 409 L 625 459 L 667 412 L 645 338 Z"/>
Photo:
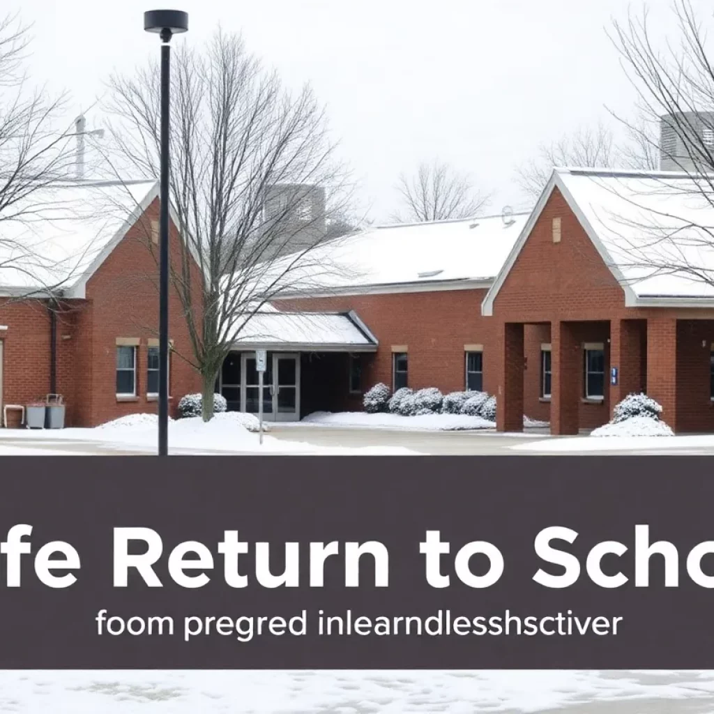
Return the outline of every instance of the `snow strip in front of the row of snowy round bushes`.
<path id="1" fill-rule="evenodd" d="M 342 426 L 368 429 L 407 429 L 415 431 L 468 431 L 471 429 L 495 429 L 496 423 L 481 416 L 466 414 L 421 414 L 419 416 L 401 416 L 399 414 L 368 414 L 364 411 L 329 412 L 316 411 L 308 414 L 300 426 Z M 523 417 L 523 426 L 527 428 L 547 427 L 548 422 L 535 421 Z"/>

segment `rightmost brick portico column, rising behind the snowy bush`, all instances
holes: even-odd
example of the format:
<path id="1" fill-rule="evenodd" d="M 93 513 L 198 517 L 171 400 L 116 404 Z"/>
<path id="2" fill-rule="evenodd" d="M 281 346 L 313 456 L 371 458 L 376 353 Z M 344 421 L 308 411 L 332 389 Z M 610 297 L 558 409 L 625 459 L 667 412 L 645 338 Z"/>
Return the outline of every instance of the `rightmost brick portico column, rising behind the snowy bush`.
<path id="1" fill-rule="evenodd" d="M 662 405 L 662 418 L 677 431 L 677 320 L 647 321 L 647 394 Z"/>

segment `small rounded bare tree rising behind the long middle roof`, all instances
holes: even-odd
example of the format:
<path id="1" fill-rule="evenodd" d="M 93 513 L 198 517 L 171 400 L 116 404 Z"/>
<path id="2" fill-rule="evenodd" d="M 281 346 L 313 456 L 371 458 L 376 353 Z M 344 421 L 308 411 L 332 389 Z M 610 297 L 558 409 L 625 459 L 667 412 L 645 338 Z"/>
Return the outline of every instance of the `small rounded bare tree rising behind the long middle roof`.
<path id="1" fill-rule="evenodd" d="M 440 161 L 421 164 L 415 176 L 401 174 L 396 188 L 404 203 L 403 211 L 393 214 L 396 223 L 471 218 L 489 201 L 489 196 L 476 191 L 468 175 Z"/>

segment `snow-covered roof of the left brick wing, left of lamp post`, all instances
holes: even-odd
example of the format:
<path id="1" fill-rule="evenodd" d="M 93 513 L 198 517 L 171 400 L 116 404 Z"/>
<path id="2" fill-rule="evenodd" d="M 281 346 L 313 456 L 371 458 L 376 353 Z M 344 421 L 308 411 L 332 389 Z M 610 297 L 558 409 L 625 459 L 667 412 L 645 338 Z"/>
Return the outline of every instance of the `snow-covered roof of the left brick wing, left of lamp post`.
<path id="1" fill-rule="evenodd" d="M 65 181 L 12 203 L 0 213 L 0 292 L 83 297 L 157 195 L 156 181 Z"/>

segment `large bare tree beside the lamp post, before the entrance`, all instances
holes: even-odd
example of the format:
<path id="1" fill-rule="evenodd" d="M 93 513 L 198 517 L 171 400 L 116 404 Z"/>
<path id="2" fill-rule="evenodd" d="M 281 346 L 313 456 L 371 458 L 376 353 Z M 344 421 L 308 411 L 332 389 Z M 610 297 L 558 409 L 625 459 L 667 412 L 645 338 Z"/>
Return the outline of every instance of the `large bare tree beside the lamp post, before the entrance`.
<path id="1" fill-rule="evenodd" d="M 201 373 L 203 419 L 248 321 L 324 273 L 311 258 L 350 191 L 313 92 L 287 91 L 234 34 L 178 46 L 171 86 L 171 203 L 182 236 L 171 280 Z M 117 156 L 159 174 L 159 68 L 114 76 Z"/>

